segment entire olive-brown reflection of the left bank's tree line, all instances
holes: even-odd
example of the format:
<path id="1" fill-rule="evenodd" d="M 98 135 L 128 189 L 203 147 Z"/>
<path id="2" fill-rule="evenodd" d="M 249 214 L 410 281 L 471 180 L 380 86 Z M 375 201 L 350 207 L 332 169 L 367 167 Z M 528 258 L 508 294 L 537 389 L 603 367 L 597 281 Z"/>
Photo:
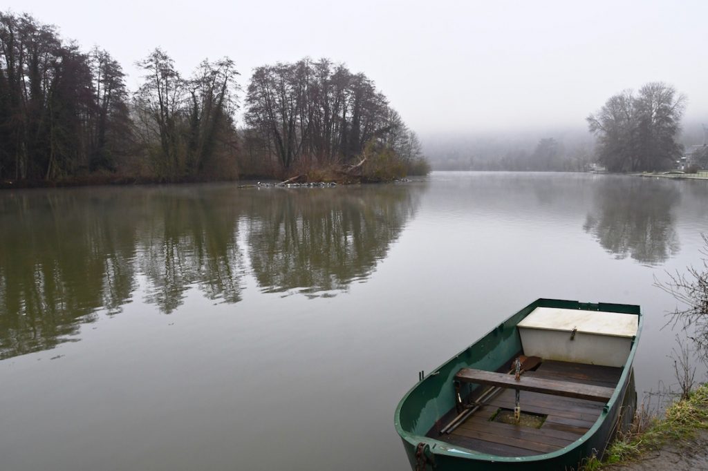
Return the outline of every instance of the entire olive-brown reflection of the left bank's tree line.
<path id="1" fill-rule="evenodd" d="M 2 194 L 0 359 L 67 342 L 98 310 L 120 313 L 134 296 L 162 313 L 193 287 L 237 303 L 239 243 L 269 291 L 346 289 L 386 255 L 416 206 L 412 194 L 396 186 Z"/>

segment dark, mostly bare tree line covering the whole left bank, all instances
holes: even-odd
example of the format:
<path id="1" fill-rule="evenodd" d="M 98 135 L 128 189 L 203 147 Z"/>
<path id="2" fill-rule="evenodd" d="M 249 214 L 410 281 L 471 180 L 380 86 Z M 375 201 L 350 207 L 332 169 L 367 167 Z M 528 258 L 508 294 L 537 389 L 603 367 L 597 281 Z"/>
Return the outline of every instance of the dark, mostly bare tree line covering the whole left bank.
<path id="1" fill-rule="evenodd" d="M 241 128 L 232 59 L 183 77 L 157 48 L 137 65 L 132 93 L 109 52 L 82 52 L 52 25 L 0 13 L 0 182 L 332 177 L 362 161 L 375 175 L 382 156 L 389 178 L 428 171 L 416 134 L 373 81 L 329 59 L 258 67 Z"/>

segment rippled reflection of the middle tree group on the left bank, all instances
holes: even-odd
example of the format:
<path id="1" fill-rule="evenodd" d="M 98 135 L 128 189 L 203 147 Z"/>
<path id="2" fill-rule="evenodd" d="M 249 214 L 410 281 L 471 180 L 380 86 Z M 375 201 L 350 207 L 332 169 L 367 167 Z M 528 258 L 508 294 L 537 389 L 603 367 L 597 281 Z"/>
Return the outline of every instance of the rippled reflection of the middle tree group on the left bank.
<path id="1" fill-rule="evenodd" d="M 156 194 L 152 221 L 142 229 L 139 264 L 149 279 L 147 301 L 171 313 L 193 284 L 207 298 L 241 301 L 240 209 L 234 194 L 175 191 Z"/>

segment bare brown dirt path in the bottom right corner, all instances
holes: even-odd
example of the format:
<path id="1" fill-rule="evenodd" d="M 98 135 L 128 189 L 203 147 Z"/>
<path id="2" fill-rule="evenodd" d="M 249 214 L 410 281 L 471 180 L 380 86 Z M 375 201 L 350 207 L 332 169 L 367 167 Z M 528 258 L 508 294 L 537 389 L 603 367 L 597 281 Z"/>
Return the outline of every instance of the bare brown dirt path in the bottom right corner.
<path id="1" fill-rule="evenodd" d="M 708 431 L 700 431 L 695 440 L 687 443 L 667 444 L 661 450 L 650 451 L 636 463 L 612 466 L 609 469 L 613 471 L 708 470 Z"/>

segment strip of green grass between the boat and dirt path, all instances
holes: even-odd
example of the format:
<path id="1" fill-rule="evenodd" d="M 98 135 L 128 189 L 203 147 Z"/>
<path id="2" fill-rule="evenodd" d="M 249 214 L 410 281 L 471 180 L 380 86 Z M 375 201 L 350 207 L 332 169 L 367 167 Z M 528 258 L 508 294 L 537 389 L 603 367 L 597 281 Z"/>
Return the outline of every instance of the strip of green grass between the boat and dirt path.
<path id="1" fill-rule="evenodd" d="M 708 383 L 700 385 L 688 399 L 673 403 L 666 409 L 663 418 L 647 419 L 646 414 L 638 414 L 632 431 L 618 436 L 607 447 L 605 459 L 590 458 L 583 471 L 628 463 L 666 443 L 681 443 L 694 438 L 700 429 L 708 429 Z"/>

